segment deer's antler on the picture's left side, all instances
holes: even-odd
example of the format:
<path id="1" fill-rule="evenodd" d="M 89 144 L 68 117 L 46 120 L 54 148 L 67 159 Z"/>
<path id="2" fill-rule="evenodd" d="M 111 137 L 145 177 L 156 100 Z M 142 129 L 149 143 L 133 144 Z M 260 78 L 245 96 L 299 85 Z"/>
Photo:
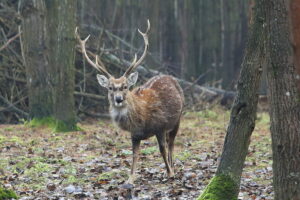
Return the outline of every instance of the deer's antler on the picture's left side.
<path id="1" fill-rule="evenodd" d="M 111 74 L 108 73 L 108 71 L 106 70 L 106 68 L 102 64 L 102 62 L 99 60 L 98 55 L 96 55 L 96 62 L 93 62 L 89 58 L 89 56 L 87 55 L 87 52 L 86 52 L 86 49 L 85 49 L 85 43 L 89 39 L 90 35 L 88 35 L 84 40 L 81 40 L 77 30 L 78 30 L 78 28 L 76 27 L 76 29 L 75 29 L 75 37 L 78 39 L 78 41 L 80 43 L 81 51 L 82 51 L 83 55 L 85 56 L 86 60 L 88 61 L 88 63 L 90 63 L 90 65 L 92 65 L 98 71 L 104 73 L 108 77 L 111 77 Z M 100 61 L 101 65 L 98 63 L 98 61 Z"/>

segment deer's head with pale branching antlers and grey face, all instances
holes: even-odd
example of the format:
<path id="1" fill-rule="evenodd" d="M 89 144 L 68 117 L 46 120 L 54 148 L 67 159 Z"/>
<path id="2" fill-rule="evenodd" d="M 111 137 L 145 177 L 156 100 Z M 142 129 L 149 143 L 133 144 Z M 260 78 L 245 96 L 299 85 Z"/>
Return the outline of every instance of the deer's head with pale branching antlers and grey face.
<path id="1" fill-rule="evenodd" d="M 81 40 L 80 36 L 77 32 L 77 28 L 75 30 L 75 36 L 80 42 L 81 51 L 84 54 L 86 60 L 90 65 L 96 68 L 98 71 L 103 73 L 104 75 L 97 74 L 97 80 L 102 87 L 105 87 L 108 90 L 108 99 L 112 106 L 122 108 L 127 105 L 126 96 L 129 91 L 129 88 L 133 86 L 138 79 L 138 72 L 131 73 L 136 67 L 144 60 L 149 42 L 148 42 L 148 32 L 150 30 L 150 22 L 148 22 L 148 27 L 145 33 L 142 33 L 140 30 L 139 33 L 143 36 L 145 42 L 145 48 L 142 56 L 139 60 L 137 60 L 137 55 L 135 54 L 132 63 L 130 64 L 129 68 L 125 71 L 125 73 L 120 78 L 115 78 L 112 76 L 105 68 L 101 60 L 96 56 L 96 61 L 93 62 L 89 56 L 87 55 L 85 49 L 85 43 L 89 39 L 88 36 L 86 39 Z"/>

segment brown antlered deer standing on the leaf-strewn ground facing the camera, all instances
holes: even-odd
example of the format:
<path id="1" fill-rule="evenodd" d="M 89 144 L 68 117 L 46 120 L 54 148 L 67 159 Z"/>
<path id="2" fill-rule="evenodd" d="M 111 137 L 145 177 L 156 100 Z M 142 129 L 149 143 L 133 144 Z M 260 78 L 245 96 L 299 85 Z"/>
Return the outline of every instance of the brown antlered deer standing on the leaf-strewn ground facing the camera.
<path id="1" fill-rule="evenodd" d="M 127 180 L 127 183 L 130 184 L 135 181 L 141 140 L 152 136 L 157 138 L 168 177 L 174 177 L 172 154 L 184 106 L 182 88 L 177 80 L 170 75 L 154 76 L 140 87 L 130 90 L 138 79 L 138 72 L 133 71 L 144 60 L 149 47 L 149 20 L 147 25 L 145 33 L 138 29 L 144 39 L 144 52 L 139 60 L 137 60 L 137 54 L 134 55 L 132 63 L 119 78 L 115 78 L 107 71 L 98 55 L 96 55 L 95 62 L 89 58 L 85 47 L 89 36 L 81 40 L 77 28 L 75 30 L 75 36 L 79 41 L 85 59 L 92 67 L 103 74 L 97 74 L 97 80 L 100 86 L 108 90 L 109 113 L 113 122 L 119 128 L 131 134 L 132 165 Z"/>

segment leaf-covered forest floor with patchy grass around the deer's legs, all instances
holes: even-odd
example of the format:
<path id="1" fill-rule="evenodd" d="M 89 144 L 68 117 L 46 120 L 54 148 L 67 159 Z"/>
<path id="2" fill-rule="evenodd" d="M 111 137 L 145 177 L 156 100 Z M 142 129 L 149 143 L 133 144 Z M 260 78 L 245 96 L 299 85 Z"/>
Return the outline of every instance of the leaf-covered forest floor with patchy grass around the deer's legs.
<path id="1" fill-rule="evenodd" d="M 214 175 L 229 121 L 220 108 L 186 112 L 175 143 L 175 178 L 155 138 L 141 145 L 135 184 L 124 184 L 131 140 L 109 120 L 86 120 L 83 131 L 0 125 L 0 185 L 20 199 L 195 199 Z M 259 113 L 239 199 L 273 199 L 269 117 Z"/>

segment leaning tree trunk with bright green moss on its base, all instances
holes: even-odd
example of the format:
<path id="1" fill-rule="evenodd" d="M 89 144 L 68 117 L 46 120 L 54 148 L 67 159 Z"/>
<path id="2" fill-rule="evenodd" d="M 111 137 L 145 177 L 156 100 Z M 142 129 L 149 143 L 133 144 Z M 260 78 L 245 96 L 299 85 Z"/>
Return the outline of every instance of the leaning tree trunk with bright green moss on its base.
<path id="1" fill-rule="evenodd" d="M 254 22 L 250 27 L 221 161 L 215 177 L 199 197 L 200 200 L 232 200 L 238 196 L 250 136 L 255 127 L 258 88 L 265 56 L 262 3 L 263 0 L 256 0 Z"/>

